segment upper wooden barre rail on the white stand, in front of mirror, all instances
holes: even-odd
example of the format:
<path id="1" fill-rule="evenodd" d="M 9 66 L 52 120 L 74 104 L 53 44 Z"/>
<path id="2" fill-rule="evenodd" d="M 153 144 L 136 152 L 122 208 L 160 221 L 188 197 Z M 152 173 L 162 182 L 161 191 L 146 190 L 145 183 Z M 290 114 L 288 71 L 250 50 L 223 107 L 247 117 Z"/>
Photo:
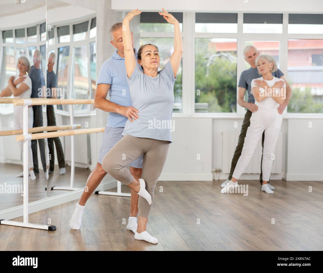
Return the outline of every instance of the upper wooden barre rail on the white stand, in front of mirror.
<path id="1" fill-rule="evenodd" d="M 27 99 L 14 99 L 14 105 L 25 105 Z M 28 105 L 94 104 L 94 99 L 31 99 Z"/>

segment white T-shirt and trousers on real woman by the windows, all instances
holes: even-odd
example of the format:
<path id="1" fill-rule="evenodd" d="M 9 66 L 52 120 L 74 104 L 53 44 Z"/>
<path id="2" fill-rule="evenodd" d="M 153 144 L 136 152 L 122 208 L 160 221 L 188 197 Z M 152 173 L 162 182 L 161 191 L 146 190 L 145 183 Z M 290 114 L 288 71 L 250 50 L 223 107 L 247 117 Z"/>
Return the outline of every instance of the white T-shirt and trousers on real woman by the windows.
<path id="1" fill-rule="evenodd" d="M 255 87 L 255 80 L 264 80 L 263 77 L 251 81 L 251 88 Z M 272 87 L 281 79 L 274 77 L 272 80 L 265 80 L 268 87 Z M 286 84 L 283 88 L 286 90 Z M 265 92 L 265 89 L 259 88 L 260 93 Z M 277 90 L 276 90 L 276 93 Z M 278 113 L 277 103 L 273 98 L 266 98 L 260 102 L 255 100 L 258 110 L 252 113 L 250 118 L 250 126 L 247 129 L 244 146 L 241 155 L 235 166 L 232 177 L 239 179 L 242 172 L 248 165 L 255 147 L 257 146 L 262 134 L 265 130 L 265 140 L 263 149 L 262 174 L 263 181 L 269 181 L 271 168 L 273 165 L 272 154 L 275 152 L 276 142 L 279 136 L 280 127 L 283 121 L 282 115 Z"/>

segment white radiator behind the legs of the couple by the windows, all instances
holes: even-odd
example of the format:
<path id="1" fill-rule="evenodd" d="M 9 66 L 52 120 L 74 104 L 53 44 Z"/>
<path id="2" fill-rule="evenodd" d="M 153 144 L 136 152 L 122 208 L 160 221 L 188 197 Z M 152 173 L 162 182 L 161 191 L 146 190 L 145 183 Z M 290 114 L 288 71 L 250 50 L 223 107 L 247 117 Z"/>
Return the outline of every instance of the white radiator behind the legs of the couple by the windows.
<path id="1" fill-rule="evenodd" d="M 231 161 L 235 148 L 238 144 L 240 131 L 223 131 L 223 150 L 222 150 L 222 173 L 229 174 L 231 169 Z M 282 150 L 283 150 L 283 133 L 279 133 L 276 143 L 275 160 L 273 162 L 272 174 L 282 172 Z M 244 174 L 260 174 L 260 162 L 262 155 L 261 139 L 255 148 L 255 152 L 245 168 Z"/>

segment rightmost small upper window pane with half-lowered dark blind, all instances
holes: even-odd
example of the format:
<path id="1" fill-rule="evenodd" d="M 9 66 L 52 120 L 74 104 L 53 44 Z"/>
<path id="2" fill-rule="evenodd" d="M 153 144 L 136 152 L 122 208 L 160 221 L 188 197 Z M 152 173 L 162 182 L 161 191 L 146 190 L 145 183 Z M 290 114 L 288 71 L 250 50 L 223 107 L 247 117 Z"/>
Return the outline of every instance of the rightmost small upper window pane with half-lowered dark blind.
<path id="1" fill-rule="evenodd" d="M 288 33 L 323 34 L 323 14 L 289 14 Z"/>

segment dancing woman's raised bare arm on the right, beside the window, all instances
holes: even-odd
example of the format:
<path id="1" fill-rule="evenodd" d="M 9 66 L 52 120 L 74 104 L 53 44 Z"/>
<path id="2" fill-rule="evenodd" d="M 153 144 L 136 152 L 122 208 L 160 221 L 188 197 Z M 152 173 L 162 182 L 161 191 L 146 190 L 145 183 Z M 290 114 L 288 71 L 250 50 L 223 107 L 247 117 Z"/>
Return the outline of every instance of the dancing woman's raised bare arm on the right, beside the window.
<path id="1" fill-rule="evenodd" d="M 164 8 L 162 8 L 164 12 L 160 12 L 160 15 L 163 15 L 165 20 L 174 25 L 174 52 L 171 56 L 170 62 L 173 68 L 174 77 L 176 77 L 177 72 L 181 65 L 181 60 L 183 56 L 183 40 L 180 30 L 180 23 L 175 19 L 175 17 L 168 13 Z"/>

